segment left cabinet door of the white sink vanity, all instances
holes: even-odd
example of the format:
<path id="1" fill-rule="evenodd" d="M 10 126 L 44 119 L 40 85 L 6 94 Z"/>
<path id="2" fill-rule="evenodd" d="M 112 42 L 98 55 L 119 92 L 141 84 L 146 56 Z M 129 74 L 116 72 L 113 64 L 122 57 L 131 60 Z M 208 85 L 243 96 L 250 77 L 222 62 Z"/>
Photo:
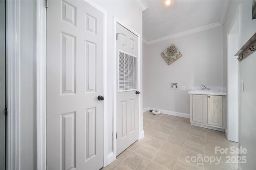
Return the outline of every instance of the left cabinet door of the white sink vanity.
<path id="1" fill-rule="evenodd" d="M 205 115 L 207 113 L 207 96 L 192 95 L 192 121 L 206 123 Z"/>

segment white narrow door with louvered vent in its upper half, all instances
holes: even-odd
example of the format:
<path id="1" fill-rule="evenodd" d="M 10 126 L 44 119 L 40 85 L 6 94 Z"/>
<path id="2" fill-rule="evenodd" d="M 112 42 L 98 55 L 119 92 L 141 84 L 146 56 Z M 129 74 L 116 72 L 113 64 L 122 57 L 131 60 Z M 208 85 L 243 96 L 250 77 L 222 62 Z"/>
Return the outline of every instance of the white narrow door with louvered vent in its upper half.
<path id="1" fill-rule="evenodd" d="M 138 37 L 116 24 L 117 49 L 117 155 L 138 140 Z"/>

